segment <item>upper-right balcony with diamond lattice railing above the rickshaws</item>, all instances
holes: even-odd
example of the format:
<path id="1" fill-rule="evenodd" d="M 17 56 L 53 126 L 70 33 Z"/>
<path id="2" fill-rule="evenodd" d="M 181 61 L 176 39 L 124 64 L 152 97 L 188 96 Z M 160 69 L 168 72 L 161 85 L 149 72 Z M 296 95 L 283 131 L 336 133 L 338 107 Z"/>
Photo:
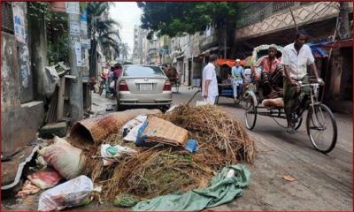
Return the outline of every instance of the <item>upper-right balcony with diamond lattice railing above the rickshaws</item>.
<path id="1" fill-rule="evenodd" d="M 339 4 L 337 2 L 243 4 L 236 23 L 236 41 L 294 27 L 294 21 L 289 10 L 290 7 L 295 16 L 297 26 L 335 18 L 339 12 Z M 352 11 L 352 7 L 350 9 Z"/>

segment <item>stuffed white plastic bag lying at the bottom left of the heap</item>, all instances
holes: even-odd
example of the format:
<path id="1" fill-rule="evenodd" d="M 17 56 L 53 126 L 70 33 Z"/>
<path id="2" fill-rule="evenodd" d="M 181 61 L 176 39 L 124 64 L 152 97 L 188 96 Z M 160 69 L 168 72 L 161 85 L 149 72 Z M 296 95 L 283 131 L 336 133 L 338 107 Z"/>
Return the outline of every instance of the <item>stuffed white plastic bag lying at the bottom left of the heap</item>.
<path id="1" fill-rule="evenodd" d="M 88 204 L 93 189 L 90 178 L 84 175 L 73 178 L 43 192 L 39 198 L 38 210 L 59 210 Z"/>

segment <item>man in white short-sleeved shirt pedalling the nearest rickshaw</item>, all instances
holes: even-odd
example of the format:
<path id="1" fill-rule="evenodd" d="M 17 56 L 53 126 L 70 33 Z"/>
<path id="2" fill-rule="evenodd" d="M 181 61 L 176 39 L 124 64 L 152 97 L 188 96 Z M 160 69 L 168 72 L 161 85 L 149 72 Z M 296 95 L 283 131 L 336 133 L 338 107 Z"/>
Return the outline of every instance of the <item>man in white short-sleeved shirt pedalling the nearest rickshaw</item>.
<path id="1" fill-rule="evenodd" d="M 308 35 L 304 30 L 296 33 L 295 42 L 289 44 L 283 49 L 281 64 L 284 66 L 284 110 L 288 121 L 287 132 L 295 133 L 294 123 L 292 121 L 292 114 L 299 106 L 298 98 L 304 99 L 308 95 L 308 87 L 300 87 L 299 81 L 303 84 L 309 83 L 307 76 L 307 66 L 311 67 L 316 80 L 319 84 L 323 84 L 323 80 L 319 79 L 315 59 L 312 55 L 312 50 L 306 44 Z"/>

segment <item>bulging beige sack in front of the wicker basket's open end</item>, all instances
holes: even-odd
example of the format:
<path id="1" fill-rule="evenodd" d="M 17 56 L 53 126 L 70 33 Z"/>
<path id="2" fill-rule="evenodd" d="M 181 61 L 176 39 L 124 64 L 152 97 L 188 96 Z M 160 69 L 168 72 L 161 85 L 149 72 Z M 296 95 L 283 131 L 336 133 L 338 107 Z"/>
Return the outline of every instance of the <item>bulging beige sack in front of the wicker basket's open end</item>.
<path id="1" fill-rule="evenodd" d="M 81 155 L 81 149 L 74 148 L 57 136 L 54 137 L 54 144 L 42 148 L 39 154 L 66 179 L 78 177 L 85 166 L 85 156 Z"/>

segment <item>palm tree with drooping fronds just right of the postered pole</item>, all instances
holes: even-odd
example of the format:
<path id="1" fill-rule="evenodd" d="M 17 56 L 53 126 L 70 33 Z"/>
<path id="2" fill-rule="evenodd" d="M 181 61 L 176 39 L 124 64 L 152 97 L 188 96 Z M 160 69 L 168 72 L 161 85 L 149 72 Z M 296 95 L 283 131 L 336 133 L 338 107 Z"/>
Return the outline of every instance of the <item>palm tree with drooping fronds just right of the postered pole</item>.
<path id="1" fill-rule="evenodd" d="M 119 23 L 108 17 L 108 10 L 112 3 L 90 2 L 88 4 L 88 28 L 91 40 L 89 52 L 89 74 L 96 76 L 96 50 L 99 44 L 104 53 L 108 54 L 108 49 L 113 49 L 119 54 Z"/>

